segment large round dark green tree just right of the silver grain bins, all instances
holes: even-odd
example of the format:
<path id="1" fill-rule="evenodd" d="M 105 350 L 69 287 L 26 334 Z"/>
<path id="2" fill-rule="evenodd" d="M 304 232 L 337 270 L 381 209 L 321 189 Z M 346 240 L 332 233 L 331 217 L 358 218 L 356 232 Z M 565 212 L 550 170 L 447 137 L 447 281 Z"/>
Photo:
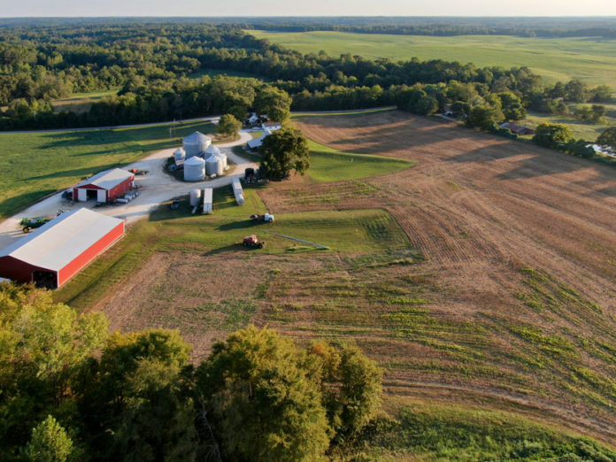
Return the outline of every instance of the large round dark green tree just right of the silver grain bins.
<path id="1" fill-rule="evenodd" d="M 282 127 L 266 136 L 259 153 L 259 173 L 270 180 L 285 180 L 293 170 L 304 174 L 310 166 L 308 141 L 297 128 Z"/>

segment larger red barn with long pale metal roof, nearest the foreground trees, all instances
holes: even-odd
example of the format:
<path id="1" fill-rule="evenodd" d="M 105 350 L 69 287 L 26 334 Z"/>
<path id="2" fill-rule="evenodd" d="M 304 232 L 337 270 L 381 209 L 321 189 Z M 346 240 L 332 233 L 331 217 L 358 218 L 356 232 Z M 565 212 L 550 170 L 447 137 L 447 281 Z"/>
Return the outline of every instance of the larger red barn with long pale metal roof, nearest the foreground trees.
<path id="1" fill-rule="evenodd" d="M 124 221 L 81 208 L 0 250 L 0 277 L 57 289 L 124 235 Z"/>

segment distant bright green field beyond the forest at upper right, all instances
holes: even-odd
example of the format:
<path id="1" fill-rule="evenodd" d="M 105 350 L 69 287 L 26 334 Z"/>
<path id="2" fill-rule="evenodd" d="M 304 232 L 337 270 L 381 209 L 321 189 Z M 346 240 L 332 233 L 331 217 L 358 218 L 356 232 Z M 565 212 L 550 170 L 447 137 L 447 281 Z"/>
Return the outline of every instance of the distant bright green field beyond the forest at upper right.
<path id="1" fill-rule="evenodd" d="M 372 59 L 416 57 L 474 63 L 481 67 L 527 66 L 550 82 L 579 78 L 590 85 L 607 84 L 616 88 L 616 40 L 600 37 L 543 39 L 508 35 L 432 37 L 328 31 L 246 32 L 302 53 L 324 50 L 333 57 L 350 53 Z"/>

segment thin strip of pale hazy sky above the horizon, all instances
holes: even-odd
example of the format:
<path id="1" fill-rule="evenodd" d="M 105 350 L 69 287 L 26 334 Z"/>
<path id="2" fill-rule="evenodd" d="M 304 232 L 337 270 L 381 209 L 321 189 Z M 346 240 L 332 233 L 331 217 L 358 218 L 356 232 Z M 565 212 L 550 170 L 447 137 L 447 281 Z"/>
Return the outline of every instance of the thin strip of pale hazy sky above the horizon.
<path id="1" fill-rule="evenodd" d="M 616 16 L 616 0 L 0 0 L 18 16 Z"/>

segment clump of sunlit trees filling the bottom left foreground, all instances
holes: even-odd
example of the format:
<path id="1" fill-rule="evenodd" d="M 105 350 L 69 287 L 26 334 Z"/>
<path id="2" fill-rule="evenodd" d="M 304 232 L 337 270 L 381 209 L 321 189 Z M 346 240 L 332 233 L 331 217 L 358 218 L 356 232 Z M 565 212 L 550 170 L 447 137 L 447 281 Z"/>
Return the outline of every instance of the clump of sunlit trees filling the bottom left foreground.
<path id="1" fill-rule="evenodd" d="M 348 343 L 248 327 L 196 364 L 176 331 L 107 328 L 0 284 L 2 460 L 320 460 L 381 406 L 381 369 Z"/>

